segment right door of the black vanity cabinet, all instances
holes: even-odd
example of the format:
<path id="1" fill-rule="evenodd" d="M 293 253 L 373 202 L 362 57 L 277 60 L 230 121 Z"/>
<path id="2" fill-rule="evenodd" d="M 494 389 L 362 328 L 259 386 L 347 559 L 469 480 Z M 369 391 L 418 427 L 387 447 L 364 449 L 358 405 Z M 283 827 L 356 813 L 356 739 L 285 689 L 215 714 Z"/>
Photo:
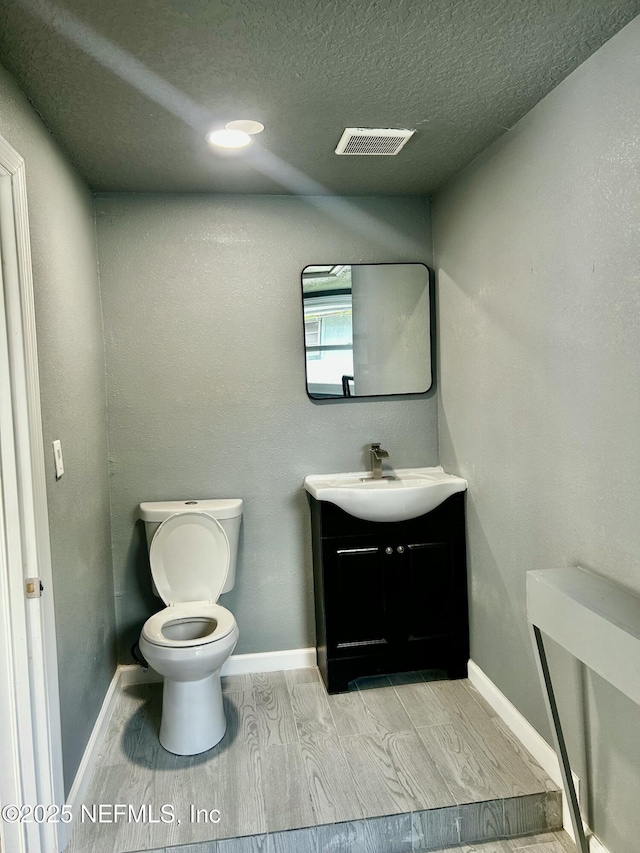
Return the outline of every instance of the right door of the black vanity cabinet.
<path id="1" fill-rule="evenodd" d="M 457 626 L 449 542 L 409 544 L 406 556 L 405 636 L 411 642 L 453 633 Z"/>

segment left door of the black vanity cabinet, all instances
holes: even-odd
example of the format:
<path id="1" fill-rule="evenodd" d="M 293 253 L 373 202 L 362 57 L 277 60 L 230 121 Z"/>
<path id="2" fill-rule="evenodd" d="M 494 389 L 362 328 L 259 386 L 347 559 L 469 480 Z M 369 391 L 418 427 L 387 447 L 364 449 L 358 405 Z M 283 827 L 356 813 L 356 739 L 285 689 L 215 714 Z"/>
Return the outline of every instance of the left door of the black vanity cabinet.
<path id="1" fill-rule="evenodd" d="M 385 553 L 377 537 L 333 539 L 324 554 L 327 645 L 341 654 L 386 646 Z"/>

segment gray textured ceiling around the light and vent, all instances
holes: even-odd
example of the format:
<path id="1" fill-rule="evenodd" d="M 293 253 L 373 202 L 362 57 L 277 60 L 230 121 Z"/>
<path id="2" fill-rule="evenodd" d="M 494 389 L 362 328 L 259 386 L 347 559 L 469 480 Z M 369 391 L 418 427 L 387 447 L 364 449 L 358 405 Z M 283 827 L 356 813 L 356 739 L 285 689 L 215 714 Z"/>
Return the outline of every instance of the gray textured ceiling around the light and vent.
<path id="1" fill-rule="evenodd" d="M 0 62 L 95 190 L 429 194 L 640 0 L 0 0 Z M 207 130 L 266 130 L 218 154 Z M 345 126 L 409 127 L 339 157 Z M 1 132 L 1 115 L 0 115 Z"/>

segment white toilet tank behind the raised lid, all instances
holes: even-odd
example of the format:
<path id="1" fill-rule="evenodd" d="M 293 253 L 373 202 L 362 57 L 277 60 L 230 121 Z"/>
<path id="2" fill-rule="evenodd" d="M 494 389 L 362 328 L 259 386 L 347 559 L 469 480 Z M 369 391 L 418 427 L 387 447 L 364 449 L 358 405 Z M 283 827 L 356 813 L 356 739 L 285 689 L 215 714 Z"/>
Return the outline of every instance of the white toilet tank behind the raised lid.
<path id="1" fill-rule="evenodd" d="M 218 498 L 204 501 L 144 501 L 140 504 L 140 518 L 144 521 L 147 547 L 151 547 L 156 530 L 165 519 L 180 512 L 206 512 L 220 523 L 229 540 L 229 574 L 221 593 L 224 595 L 225 592 L 230 592 L 236 583 L 242 507 L 241 498 Z M 153 591 L 156 592 L 155 587 Z"/>

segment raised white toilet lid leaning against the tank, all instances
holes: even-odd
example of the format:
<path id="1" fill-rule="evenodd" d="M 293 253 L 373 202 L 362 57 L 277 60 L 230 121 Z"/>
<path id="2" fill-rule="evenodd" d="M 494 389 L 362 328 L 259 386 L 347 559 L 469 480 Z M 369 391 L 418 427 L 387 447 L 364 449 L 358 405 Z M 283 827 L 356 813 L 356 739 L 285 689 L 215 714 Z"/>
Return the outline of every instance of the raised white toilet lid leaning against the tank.
<path id="1" fill-rule="evenodd" d="M 229 540 L 210 515 L 177 513 L 156 530 L 149 561 L 165 604 L 217 601 L 229 573 Z"/>

